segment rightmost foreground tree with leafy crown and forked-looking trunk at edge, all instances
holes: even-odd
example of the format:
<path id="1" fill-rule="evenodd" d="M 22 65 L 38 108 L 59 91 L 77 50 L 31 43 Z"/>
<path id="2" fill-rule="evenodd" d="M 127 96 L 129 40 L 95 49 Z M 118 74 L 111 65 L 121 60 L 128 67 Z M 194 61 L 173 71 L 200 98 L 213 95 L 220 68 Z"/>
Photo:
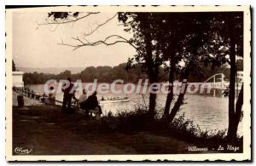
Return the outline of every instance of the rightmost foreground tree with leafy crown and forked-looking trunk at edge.
<path id="1" fill-rule="evenodd" d="M 236 58 L 243 56 L 243 13 L 218 13 L 214 16 L 211 23 L 212 28 L 209 30 L 210 32 L 212 31 L 218 40 L 212 40 L 214 45 L 207 49 L 208 52 L 210 51 L 210 53 L 216 54 L 216 56 L 213 56 L 212 59 L 209 60 L 212 60 L 212 64 L 215 66 L 224 63 L 230 64 L 229 127 L 227 137 L 229 140 L 234 141 L 236 140 L 237 127 L 241 118 L 243 98 L 243 86 L 241 86 L 235 106 Z M 226 58 L 227 55 L 229 59 Z"/>

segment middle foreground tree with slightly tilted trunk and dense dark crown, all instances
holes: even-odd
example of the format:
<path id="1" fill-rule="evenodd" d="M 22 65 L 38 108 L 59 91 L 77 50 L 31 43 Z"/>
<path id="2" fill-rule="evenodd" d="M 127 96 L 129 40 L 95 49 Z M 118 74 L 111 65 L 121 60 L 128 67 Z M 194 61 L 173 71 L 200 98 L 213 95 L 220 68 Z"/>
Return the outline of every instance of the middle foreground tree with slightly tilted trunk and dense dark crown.
<path id="1" fill-rule="evenodd" d="M 169 116 L 171 103 L 173 100 L 173 82 L 174 76 L 180 71 L 178 68 L 179 62 L 183 60 L 182 43 L 184 39 L 189 35 L 189 31 L 192 25 L 192 20 L 189 14 L 183 13 L 168 13 L 168 14 L 157 14 L 155 20 L 159 20 L 157 23 L 159 26 L 158 34 L 156 35 L 157 41 L 160 45 L 161 52 L 163 53 L 163 60 L 168 61 L 167 70 L 169 71 L 169 87 L 168 94 L 166 97 L 166 106 L 164 117 Z M 188 28 L 189 27 L 189 28 Z M 179 100 L 183 100 L 183 95 L 179 95 Z M 179 105 L 180 106 L 180 105 Z M 179 108 L 178 104 L 176 108 Z"/>

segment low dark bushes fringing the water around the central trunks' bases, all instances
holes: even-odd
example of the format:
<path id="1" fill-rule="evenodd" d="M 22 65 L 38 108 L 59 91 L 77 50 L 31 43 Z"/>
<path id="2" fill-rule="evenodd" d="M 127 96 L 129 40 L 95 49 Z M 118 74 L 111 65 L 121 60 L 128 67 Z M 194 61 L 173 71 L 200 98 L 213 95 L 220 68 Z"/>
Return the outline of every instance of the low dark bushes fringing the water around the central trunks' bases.
<path id="1" fill-rule="evenodd" d="M 102 117 L 102 129 L 108 132 L 158 132 L 166 131 L 170 135 L 183 137 L 191 140 L 215 140 L 224 141 L 226 130 L 202 130 L 195 125 L 192 120 L 185 119 L 184 114 L 174 118 L 172 123 L 166 124 L 162 119 L 155 118 L 153 121 L 148 116 L 147 109 L 141 106 L 137 107 L 135 112 L 119 112 L 115 116 L 108 113 L 108 116 Z M 237 139 L 240 139 L 237 137 Z"/>

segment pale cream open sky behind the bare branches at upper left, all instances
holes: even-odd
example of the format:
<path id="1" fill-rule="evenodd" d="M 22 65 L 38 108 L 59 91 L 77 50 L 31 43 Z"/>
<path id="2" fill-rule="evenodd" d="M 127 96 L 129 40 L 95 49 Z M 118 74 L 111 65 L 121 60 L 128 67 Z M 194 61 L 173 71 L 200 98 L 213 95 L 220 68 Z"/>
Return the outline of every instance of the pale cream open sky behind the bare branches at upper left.
<path id="1" fill-rule="evenodd" d="M 18 67 L 31 68 L 62 68 L 87 66 L 117 66 L 126 62 L 128 57 L 136 54 L 128 43 L 117 43 L 113 46 L 82 47 L 73 50 L 72 47 L 61 45 L 76 43 L 72 37 L 83 37 L 114 13 L 93 14 L 73 23 L 41 25 L 45 23 L 47 13 L 19 12 L 13 14 L 13 58 Z M 120 35 L 129 39 L 131 33 L 123 31 L 117 16 L 95 33 L 86 37 L 90 42 L 102 40 L 109 35 Z"/>

